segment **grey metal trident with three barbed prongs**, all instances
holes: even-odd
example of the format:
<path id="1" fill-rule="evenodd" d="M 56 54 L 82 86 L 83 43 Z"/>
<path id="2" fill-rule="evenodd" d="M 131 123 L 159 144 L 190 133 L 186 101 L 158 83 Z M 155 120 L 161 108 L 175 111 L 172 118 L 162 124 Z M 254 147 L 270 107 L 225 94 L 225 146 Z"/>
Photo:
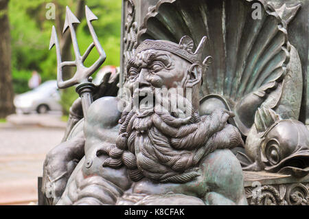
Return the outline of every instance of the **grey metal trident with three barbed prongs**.
<path id="1" fill-rule="evenodd" d="M 63 27 L 63 34 L 65 31 L 70 29 L 71 38 L 73 43 L 73 49 L 75 54 L 74 61 L 61 61 L 61 54 L 60 54 L 60 47 L 58 42 L 58 37 L 56 33 L 56 29 L 52 27 L 52 36 L 50 38 L 49 49 L 52 49 L 54 45 L 56 45 L 56 54 L 57 54 L 57 84 L 59 89 L 65 89 L 68 87 L 72 87 L 77 84 L 76 92 L 80 95 L 82 99 L 82 111 L 84 113 L 84 118 L 86 118 L 87 109 L 89 108 L 90 104 L 93 102 L 92 93 L 95 90 L 95 85 L 91 82 L 92 78 L 90 77 L 104 62 L 106 58 L 106 54 L 104 49 L 100 45 L 98 40 L 98 36 L 95 34 L 93 29 L 93 25 L 91 21 L 98 20 L 98 17 L 91 12 L 88 6 L 85 6 L 85 14 L 87 19 L 87 25 L 89 27 L 90 34 L 93 38 L 93 43 L 89 45 L 87 50 L 84 54 L 80 55 L 80 49 L 78 48 L 78 42 L 76 39 L 76 32 L 73 27 L 73 23 L 80 23 L 76 16 L 71 12 L 69 7 L 66 8 L 66 15 L 65 15 L 65 26 Z M 84 66 L 84 60 L 86 60 L 87 56 L 90 54 L 93 47 L 97 48 L 100 57 L 96 60 L 91 67 Z M 62 70 L 65 66 L 75 66 L 76 73 L 74 76 L 68 80 L 63 80 Z"/>

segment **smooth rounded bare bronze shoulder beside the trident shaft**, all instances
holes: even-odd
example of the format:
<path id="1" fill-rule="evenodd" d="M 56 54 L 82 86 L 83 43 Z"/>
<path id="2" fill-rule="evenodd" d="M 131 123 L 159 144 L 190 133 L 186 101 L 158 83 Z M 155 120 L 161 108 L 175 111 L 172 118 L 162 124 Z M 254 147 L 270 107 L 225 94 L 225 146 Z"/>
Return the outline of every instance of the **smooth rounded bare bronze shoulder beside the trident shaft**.
<path id="1" fill-rule="evenodd" d="M 122 112 L 119 111 L 119 98 L 101 97 L 95 100 L 87 111 L 87 125 L 112 128 L 117 126 Z"/>

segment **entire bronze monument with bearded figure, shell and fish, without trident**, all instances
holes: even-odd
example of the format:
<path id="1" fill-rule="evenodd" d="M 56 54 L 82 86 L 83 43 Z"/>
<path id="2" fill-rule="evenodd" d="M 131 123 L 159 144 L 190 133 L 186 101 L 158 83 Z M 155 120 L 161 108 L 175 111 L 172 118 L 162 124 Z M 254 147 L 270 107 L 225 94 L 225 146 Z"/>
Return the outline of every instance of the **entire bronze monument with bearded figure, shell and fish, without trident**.
<path id="1" fill-rule="evenodd" d="M 71 107 L 47 202 L 308 205 L 308 2 L 123 2 L 121 72 Z"/>

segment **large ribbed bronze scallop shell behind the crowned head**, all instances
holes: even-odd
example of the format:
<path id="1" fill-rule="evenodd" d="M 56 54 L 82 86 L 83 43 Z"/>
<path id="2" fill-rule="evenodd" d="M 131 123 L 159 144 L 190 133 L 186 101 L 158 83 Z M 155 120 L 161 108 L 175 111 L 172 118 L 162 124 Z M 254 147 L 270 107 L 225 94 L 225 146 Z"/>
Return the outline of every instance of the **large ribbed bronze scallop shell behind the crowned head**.
<path id="1" fill-rule="evenodd" d="M 262 19 L 253 19 L 253 3 L 260 3 Z M 298 119 L 302 91 L 301 86 L 295 86 L 302 83 L 301 65 L 296 49 L 288 42 L 288 21 L 279 15 L 273 5 L 262 0 L 162 0 L 146 15 L 137 41 L 148 38 L 178 43 L 187 35 L 198 45 L 207 36 L 203 57 L 211 55 L 212 63 L 203 76 L 201 97 L 215 93 L 235 103 L 263 84 L 276 81 L 278 88 L 264 104 L 279 108 L 283 117 Z M 287 69 L 291 49 L 295 49 L 295 61 Z M 287 74 L 292 81 L 284 83 Z"/>

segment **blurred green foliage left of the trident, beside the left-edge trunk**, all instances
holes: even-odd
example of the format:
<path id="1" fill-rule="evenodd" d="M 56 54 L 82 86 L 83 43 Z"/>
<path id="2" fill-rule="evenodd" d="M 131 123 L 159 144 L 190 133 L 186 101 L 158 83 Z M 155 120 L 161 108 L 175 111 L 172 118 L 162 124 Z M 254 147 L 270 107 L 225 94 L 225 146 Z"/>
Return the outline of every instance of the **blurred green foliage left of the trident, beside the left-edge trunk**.
<path id="1" fill-rule="evenodd" d="M 12 72 L 16 80 L 30 78 L 33 70 L 39 71 L 43 80 L 49 80 L 55 76 L 54 72 L 50 73 L 41 67 L 42 62 L 46 60 L 51 62 L 53 59 L 52 54 L 48 52 L 49 32 L 42 25 L 44 22 L 51 22 L 45 21 L 45 15 L 40 19 L 33 17 L 33 11 L 44 9 L 43 4 L 42 0 L 10 1 Z M 25 77 L 25 72 L 28 77 Z"/>

